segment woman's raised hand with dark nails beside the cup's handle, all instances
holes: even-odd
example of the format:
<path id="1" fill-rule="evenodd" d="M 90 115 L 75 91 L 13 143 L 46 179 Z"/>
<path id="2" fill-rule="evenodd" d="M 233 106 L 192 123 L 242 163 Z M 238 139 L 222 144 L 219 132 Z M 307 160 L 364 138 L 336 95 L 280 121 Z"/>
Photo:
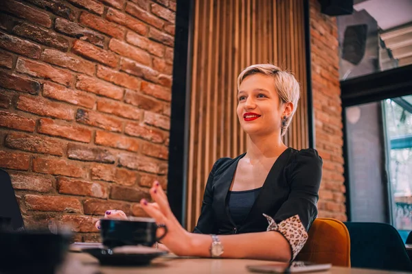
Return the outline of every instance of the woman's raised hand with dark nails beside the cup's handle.
<path id="1" fill-rule="evenodd" d="M 148 203 L 146 199 L 141 199 L 140 205 L 149 216 L 155 219 L 156 223 L 168 227 L 168 233 L 161 242 L 178 256 L 190 256 L 193 245 L 192 234 L 187 232 L 177 221 L 170 209 L 168 197 L 159 182 L 153 183 L 152 188 L 150 188 L 150 196 L 155 203 Z M 161 234 L 163 234 L 163 229 L 158 229 L 158 236 Z"/>

